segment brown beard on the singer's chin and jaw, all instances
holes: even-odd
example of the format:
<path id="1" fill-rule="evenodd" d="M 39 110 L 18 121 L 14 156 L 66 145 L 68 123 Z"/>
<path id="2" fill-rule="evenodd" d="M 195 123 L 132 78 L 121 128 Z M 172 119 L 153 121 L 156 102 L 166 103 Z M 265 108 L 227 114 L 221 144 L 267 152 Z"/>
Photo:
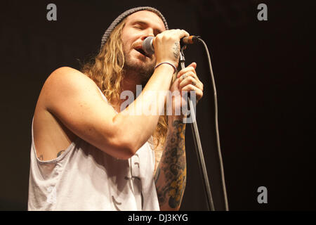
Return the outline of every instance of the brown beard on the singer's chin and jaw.
<path id="1" fill-rule="evenodd" d="M 139 63 L 133 62 L 133 59 L 131 58 L 129 53 L 126 53 L 126 51 L 124 51 L 124 61 L 124 74 L 140 78 L 141 84 L 145 86 L 145 84 L 147 84 L 148 80 L 154 73 L 154 65 L 156 63 L 155 60 L 150 63 L 146 63 L 145 65 L 140 65 Z"/>

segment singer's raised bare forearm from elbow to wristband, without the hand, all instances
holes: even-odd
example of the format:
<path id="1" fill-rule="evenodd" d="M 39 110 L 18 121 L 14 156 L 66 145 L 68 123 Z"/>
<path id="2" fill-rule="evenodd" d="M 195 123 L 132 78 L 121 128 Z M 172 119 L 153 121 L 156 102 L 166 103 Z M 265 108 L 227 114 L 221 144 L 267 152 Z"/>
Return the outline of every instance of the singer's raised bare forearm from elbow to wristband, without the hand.
<path id="1" fill-rule="evenodd" d="M 133 150 L 143 146 L 154 133 L 161 115 L 159 109 L 164 108 L 166 101 L 163 94 L 170 88 L 172 75 L 170 65 L 160 65 L 138 98 L 114 117 L 113 122 L 120 129 L 120 136 L 124 135 Z"/>

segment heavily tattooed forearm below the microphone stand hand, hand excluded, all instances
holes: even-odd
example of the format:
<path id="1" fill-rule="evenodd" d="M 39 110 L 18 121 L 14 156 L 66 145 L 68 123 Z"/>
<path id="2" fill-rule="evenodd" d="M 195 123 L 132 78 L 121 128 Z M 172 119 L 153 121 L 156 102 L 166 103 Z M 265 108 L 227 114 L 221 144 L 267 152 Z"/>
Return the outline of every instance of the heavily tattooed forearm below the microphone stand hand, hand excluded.
<path id="1" fill-rule="evenodd" d="M 170 117 L 169 117 L 170 118 Z M 172 117 L 154 182 L 160 210 L 179 210 L 186 182 L 185 124 Z"/>

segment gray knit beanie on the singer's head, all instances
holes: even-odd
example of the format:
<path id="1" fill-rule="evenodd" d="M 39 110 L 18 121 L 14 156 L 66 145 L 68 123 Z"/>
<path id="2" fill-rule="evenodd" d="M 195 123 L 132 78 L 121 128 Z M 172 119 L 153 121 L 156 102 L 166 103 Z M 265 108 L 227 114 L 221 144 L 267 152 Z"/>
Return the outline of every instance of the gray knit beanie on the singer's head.
<path id="1" fill-rule="evenodd" d="M 159 17 L 162 18 L 162 21 L 164 22 L 164 27 L 166 27 L 166 30 L 169 30 L 168 24 L 166 23 L 166 19 L 164 18 L 164 15 L 162 15 L 162 13 L 160 13 L 156 8 L 152 8 L 152 7 L 148 7 L 148 6 L 131 8 L 128 11 L 125 11 L 124 13 L 121 13 L 121 15 L 119 15 L 111 23 L 110 27 L 107 28 L 107 30 L 105 31 L 105 33 L 103 34 L 103 37 L 101 39 L 101 47 L 100 47 L 100 49 L 102 49 L 102 47 L 105 44 L 105 42 L 107 42 L 107 39 L 109 39 L 110 34 L 114 30 L 114 28 L 117 25 L 119 25 L 119 23 L 121 23 L 121 21 L 124 20 L 124 18 L 126 18 L 127 16 L 129 16 L 129 15 L 131 15 L 133 13 L 136 13 L 137 11 L 143 11 L 143 10 L 152 11 L 152 12 L 156 13 L 157 15 L 159 15 Z"/>

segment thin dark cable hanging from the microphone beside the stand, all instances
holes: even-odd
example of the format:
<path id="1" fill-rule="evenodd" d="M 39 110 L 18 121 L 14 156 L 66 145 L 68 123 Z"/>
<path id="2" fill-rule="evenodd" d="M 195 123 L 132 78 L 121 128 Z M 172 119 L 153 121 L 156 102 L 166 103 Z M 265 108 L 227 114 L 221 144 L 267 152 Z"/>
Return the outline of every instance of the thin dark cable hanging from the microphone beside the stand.
<path id="1" fill-rule="evenodd" d="M 217 93 L 216 93 L 216 85 L 215 85 L 215 79 L 213 75 L 213 69 L 211 65 L 211 57 L 209 56 L 209 49 L 207 48 L 205 42 L 200 38 L 197 37 L 199 42 L 201 42 L 204 46 L 204 50 L 206 51 L 207 60 L 209 63 L 209 72 L 211 74 L 211 80 L 213 85 L 213 94 L 214 94 L 214 110 L 215 110 L 215 131 L 216 131 L 216 143 L 217 143 L 217 151 L 218 151 L 218 158 L 220 163 L 220 176 L 222 181 L 222 187 L 223 187 L 223 195 L 224 195 L 224 203 L 225 203 L 225 211 L 228 211 L 228 197 L 226 192 L 226 185 L 225 185 L 225 176 L 224 176 L 224 167 L 223 167 L 223 158 L 222 153 L 220 151 L 220 139 L 219 139 L 219 131 L 218 131 L 218 103 L 217 103 Z"/>

